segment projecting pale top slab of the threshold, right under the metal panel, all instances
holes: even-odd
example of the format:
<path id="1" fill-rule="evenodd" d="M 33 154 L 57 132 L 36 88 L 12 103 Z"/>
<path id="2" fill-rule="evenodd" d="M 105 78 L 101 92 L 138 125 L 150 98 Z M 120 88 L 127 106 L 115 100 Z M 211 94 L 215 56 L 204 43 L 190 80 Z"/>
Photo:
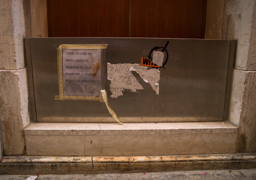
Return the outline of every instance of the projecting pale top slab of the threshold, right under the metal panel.
<path id="1" fill-rule="evenodd" d="M 237 133 L 229 121 L 169 123 L 31 123 L 25 135 L 167 135 Z"/>

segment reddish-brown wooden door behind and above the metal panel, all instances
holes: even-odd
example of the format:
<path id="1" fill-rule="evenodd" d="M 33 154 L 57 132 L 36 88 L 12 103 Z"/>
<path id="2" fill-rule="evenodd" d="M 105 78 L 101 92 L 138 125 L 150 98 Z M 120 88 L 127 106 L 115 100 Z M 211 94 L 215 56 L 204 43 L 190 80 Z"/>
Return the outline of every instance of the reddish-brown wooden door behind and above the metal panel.
<path id="1" fill-rule="evenodd" d="M 207 0 L 47 0 L 49 37 L 204 39 Z"/>

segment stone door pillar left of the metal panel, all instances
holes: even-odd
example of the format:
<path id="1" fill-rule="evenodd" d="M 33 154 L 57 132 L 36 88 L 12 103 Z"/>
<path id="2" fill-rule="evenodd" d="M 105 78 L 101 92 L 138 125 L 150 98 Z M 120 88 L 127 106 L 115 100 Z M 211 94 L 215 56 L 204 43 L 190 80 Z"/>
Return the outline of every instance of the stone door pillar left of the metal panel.
<path id="1" fill-rule="evenodd" d="M 24 154 L 23 129 L 30 123 L 23 44 L 29 24 L 25 2 L 0 0 L 0 120 L 5 155 Z"/>

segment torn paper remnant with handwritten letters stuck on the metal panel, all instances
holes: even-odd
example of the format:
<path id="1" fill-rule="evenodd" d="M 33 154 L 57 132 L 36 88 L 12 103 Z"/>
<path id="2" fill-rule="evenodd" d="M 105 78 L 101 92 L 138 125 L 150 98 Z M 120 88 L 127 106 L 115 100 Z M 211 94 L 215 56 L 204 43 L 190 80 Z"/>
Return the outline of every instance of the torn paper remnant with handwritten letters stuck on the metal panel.
<path id="1" fill-rule="evenodd" d="M 142 90 L 142 85 L 134 77 L 131 71 L 136 71 L 140 77 L 149 83 L 156 94 L 159 94 L 160 71 L 158 69 L 149 69 L 151 67 L 141 66 L 140 64 L 110 64 L 107 63 L 107 79 L 111 81 L 110 97 L 117 98 L 122 96 L 122 91 L 131 90 L 137 92 Z"/>

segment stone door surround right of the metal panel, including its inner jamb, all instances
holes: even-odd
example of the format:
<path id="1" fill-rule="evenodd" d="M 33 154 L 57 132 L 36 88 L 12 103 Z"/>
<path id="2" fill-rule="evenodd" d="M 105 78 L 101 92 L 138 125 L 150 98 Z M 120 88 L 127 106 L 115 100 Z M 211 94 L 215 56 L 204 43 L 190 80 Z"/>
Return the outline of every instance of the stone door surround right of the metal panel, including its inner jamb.
<path id="1" fill-rule="evenodd" d="M 206 38 L 237 40 L 229 121 L 239 126 L 237 152 L 255 152 L 256 3 L 255 0 L 208 0 L 207 4 L 210 9 L 207 9 Z"/>

